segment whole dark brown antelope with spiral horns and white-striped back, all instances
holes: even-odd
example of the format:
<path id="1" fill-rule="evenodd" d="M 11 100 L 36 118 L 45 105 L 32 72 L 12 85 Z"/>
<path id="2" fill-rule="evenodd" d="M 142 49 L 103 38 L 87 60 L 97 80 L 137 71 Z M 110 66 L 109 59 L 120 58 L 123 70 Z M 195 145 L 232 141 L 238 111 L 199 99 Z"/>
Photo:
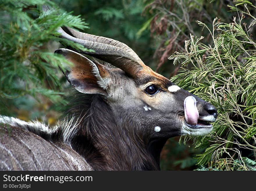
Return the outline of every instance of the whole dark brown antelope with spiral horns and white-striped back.
<path id="1" fill-rule="evenodd" d="M 126 44 L 69 27 L 58 32 L 94 50 L 55 51 L 73 64 L 60 67 L 77 90 L 71 117 L 49 128 L 0 116 L 0 169 L 160 170 L 168 138 L 212 130 L 216 108 L 154 72 Z"/>

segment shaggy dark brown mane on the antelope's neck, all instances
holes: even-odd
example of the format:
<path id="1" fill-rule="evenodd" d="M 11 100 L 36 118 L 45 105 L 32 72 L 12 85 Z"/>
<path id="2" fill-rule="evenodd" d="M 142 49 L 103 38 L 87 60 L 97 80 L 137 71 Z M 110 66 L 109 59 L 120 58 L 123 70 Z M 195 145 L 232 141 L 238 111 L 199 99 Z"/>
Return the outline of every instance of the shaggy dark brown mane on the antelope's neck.
<path id="1" fill-rule="evenodd" d="M 72 99 L 68 113 L 73 117 L 68 124 L 62 123 L 59 133 L 93 169 L 160 169 L 159 156 L 166 139 L 150 140 L 150 135 L 138 132 L 133 120 L 125 116 L 115 119 L 109 105 L 97 94 L 79 93 Z"/>

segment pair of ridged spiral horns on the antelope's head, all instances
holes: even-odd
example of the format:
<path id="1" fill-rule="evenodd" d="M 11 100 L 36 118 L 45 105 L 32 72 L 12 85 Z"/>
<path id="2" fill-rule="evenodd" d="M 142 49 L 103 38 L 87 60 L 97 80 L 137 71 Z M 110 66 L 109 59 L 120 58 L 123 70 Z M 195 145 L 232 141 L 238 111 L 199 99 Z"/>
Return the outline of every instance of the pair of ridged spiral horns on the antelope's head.
<path id="1" fill-rule="evenodd" d="M 79 53 L 85 53 L 111 63 L 133 78 L 136 78 L 136 74 L 145 66 L 130 47 L 117 40 L 82 33 L 69 27 L 61 27 L 58 29 L 58 32 L 61 33 L 61 38 L 72 40 L 83 45 L 85 48 L 95 51 L 79 51 Z"/>

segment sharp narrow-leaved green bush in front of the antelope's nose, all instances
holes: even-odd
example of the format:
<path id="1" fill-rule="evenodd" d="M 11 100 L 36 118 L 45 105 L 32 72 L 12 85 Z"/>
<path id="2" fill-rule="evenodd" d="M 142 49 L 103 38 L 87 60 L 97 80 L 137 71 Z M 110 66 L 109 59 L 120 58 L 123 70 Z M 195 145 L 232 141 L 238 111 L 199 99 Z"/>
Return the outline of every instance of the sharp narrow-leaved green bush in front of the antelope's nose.
<path id="1" fill-rule="evenodd" d="M 198 21 L 212 43 L 191 34 L 185 51 L 169 58 L 182 65 L 171 80 L 218 109 L 213 131 L 194 138 L 195 148 L 207 147 L 197 157 L 198 165 L 211 162 L 203 170 L 255 170 L 256 43 L 250 33 L 253 24 L 247 27 L 243 19 L 242 14 L 232 23 L 215 18 L 211 28 Z"/>

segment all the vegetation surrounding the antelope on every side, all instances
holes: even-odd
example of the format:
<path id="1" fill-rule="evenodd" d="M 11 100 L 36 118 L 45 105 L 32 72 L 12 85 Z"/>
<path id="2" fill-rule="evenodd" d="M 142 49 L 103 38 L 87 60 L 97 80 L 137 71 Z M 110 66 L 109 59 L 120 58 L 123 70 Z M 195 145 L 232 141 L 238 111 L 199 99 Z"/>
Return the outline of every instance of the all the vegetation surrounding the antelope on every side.
<path id="1" fill-rule="evenodd" d="M 55 9 L 40 15 L 43 4 Z M 218 108 L 222 121 L 216 121 L 210 135 L 168 140 L 161 153 L 162 170 L 255 169 L 255 4 L 254 0 L 0 0 L 0 115 L 50 125 L 61 119 L 71 87 L 57 67 L 62 58 L 53 52 L 61 44 L 53 34 L 58 26 L 70 26 L 124 42 L 153 70 Z M 228 47 L 221 47 L 222 42 Z M 209 74 L 216 76 L 206 77 Z M 230 74 L 246 80 L 237 83 L 238 77 L 231 79 Z M 231 101 L 223 104 L 221 99 Z"/>

